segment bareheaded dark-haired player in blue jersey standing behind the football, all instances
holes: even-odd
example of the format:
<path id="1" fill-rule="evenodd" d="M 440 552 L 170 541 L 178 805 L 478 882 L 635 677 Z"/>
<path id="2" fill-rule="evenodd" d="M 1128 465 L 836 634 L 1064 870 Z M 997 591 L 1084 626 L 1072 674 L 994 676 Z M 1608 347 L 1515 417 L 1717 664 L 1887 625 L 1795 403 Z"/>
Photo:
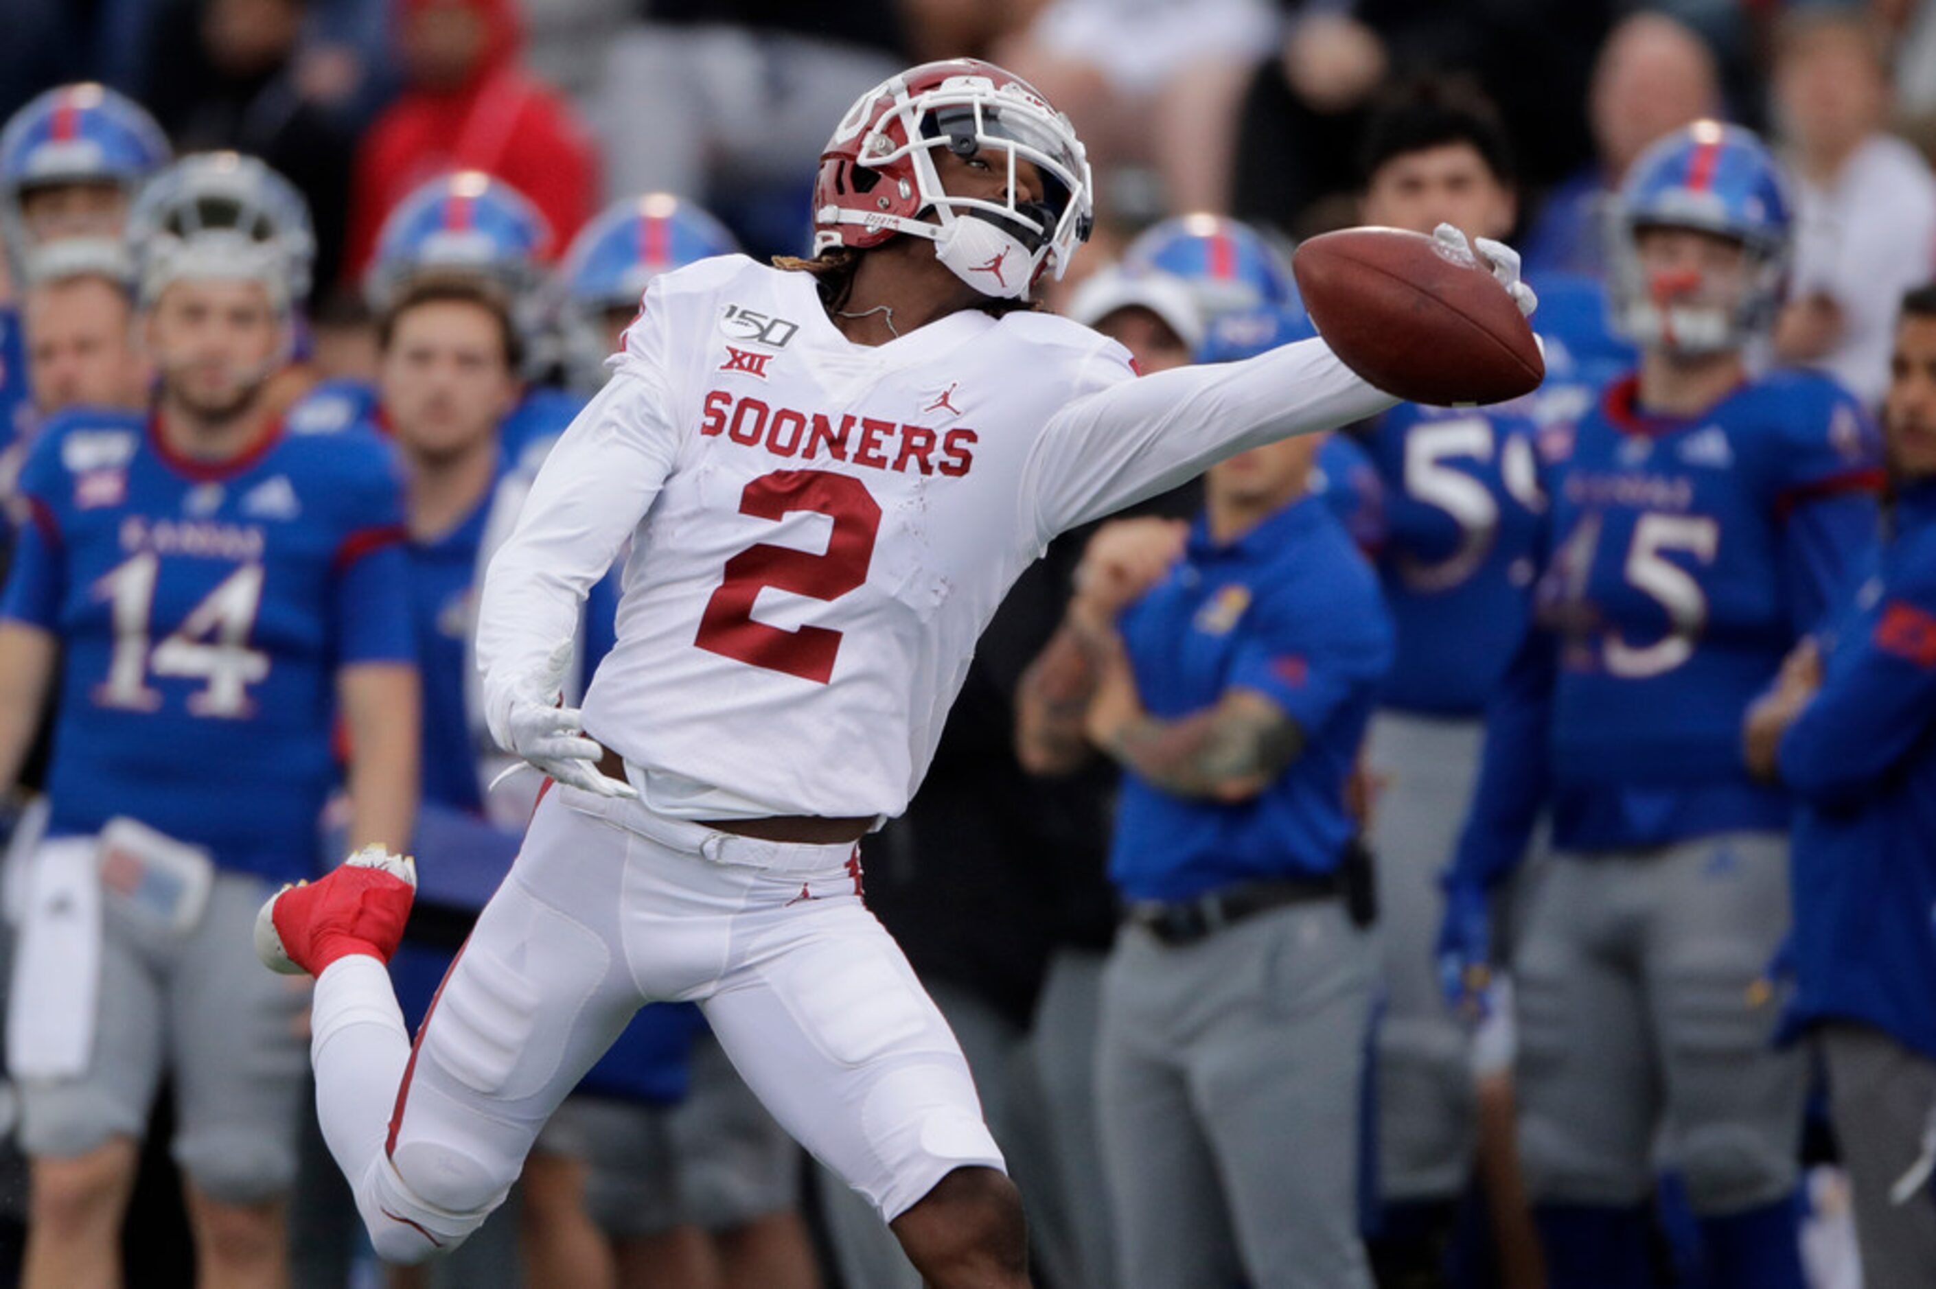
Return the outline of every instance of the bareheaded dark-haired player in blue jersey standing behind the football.
<path id="1" fill-rule="evenodd" d="M 1413 87 L 1373 116 L 1363 172 L 1369 225 L 1431 232 L 1450 223 L 1481 238 L 1512 228 L 1508 143 L 1483 101 Z M 1386 1212 L 1373 1258 L 1437 1266 L 1479 1126 L 1471 1043 L 1446 1012 L 1433 960 L 1438 873 L 1471 803 L 1487 695 L 1531 614 L 1545 499 L 1533 428 L 1512 406 L 1406 403 L 1363 441 L 1384 484 L 1378 579 L 1396 635 L 1365 743 L 1386 985 L 1376 1039 Z"/>

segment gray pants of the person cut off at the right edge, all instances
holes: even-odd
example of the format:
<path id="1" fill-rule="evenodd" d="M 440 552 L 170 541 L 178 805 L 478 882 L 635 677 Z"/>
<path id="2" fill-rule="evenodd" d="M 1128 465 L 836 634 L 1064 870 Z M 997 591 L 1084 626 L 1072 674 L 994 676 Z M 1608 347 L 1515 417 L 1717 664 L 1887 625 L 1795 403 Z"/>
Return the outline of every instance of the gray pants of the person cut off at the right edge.
<path id="1" fill-rule="evenodd" d="M 1830 1119 L 1855 1188 L 1855 1239 L 1862 1289 L 1936 1285 L 1936 1200 L 1928 1188 L 1907 1204 L 1890 1186 L 1909 1171 L 1922 1128 L 1936 1113 L 1936 1061 L 1882 1030 L 1830 1024 L 1816 1032 L 1828 1064 Z"/>

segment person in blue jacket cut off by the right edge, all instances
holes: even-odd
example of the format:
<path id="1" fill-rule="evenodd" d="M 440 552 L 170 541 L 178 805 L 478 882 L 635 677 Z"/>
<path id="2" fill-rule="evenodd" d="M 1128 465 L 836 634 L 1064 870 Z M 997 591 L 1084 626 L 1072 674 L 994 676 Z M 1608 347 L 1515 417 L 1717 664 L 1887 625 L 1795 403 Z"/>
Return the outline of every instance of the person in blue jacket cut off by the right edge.
<path id="1" fill-rule="evenodd" d="M 1868 577 L 1789 656 L 1746 745 L 1802 799 L 1789 1022 L 1828 1068 L 1862 1285 L 1921 1289 L 1936 1204 L 1891 1190 L 1915 1183 L 1936 1107 L 1936 286 L 1903 298 L 1882 430 L 1891 495 Z"/>

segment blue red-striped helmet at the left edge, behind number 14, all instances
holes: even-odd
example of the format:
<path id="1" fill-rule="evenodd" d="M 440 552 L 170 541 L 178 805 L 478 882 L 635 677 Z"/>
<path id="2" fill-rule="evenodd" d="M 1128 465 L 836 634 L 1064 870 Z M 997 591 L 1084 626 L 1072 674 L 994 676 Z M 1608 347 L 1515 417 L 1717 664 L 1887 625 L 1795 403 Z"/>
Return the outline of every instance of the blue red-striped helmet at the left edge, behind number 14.
<path id="1" fill-rule="evenodd" d="M 132 277 L 134 263 L 122 240 L 126 203 L 166 163 L 168 141 L 155 118 L 105 85 L 60 85 L 14 112 L 0 132 L 0 236 L 21 277 Z M 27 194 L 68 184 L 114 188 L 124 209 L 101 226 L 31 228 L 23 209 Z"/>

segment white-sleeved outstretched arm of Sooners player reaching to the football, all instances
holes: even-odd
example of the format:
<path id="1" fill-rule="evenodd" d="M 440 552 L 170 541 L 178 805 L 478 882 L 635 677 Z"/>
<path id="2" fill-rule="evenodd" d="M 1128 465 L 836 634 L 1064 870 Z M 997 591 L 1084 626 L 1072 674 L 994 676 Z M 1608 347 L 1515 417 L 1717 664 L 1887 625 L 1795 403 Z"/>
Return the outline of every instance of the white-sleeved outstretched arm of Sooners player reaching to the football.
<path id="1" fill-rule="evenodd" d="M 1156 372 L 1084 395 L 1049 420 L 1024 488 L 1042 538 L 1167 492 L 1241 451 L 1394 406 L 1324 345 Z"/>

